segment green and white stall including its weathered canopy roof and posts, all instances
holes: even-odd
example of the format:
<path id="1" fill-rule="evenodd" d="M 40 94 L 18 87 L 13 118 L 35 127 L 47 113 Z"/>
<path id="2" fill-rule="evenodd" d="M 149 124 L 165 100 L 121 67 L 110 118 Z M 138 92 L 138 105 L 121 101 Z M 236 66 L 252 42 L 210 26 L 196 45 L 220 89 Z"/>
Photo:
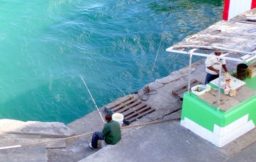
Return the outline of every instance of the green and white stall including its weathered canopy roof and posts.
<path id="1" fill-rule="evenodd" d="M 248 32 L 252 29 L 255 32 Z M 221 21 L 166 51 L 188 54 L 190 73 L 193 55 L 207 57 L 214 50 L 223 53 L 215 57 L 250 65 L 256 61 L 255 34 L 256 22 Z M 256 125 L 256 77 L 247 77 L 243 81 L 232 79 L 241 82 L 236 87 L 236 97 L 223 94 L 223 87 L 218 86 L 222 81 L 218 78 L 209 84 L 211 91 L 196 96 L 191 92 L 189 74 L 188 92 L 183 96 L 180 124 L 218 147 L 223 147 Z"/>

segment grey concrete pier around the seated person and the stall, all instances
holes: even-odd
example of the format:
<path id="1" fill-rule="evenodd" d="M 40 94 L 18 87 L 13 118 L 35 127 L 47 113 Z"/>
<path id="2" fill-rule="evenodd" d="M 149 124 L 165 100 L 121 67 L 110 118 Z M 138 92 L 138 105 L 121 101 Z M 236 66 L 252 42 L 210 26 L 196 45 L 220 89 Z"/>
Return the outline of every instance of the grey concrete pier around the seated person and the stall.
<path id="1" fill-rule="evenodd" d="M 235 67 L 227 63 L 228 69 Z M 192 77 L 204 82 L 204 60 L 192 66 Z M 181 101 L 172 95 L 175 87 L 188 83 L 188 67 L 175 71 L 164 78 L 159 78 L 149 85 L 157 94 L 149 96 L 147 105 L 156 111 L 138 119 L 132 124 L 152 121 L 179 119 Z M 143 89 L 134 96 L 142 95 Z M 113 102 L 115 103 L 115 101 Z M 111 106 L 109 103 L 106 106 Z M 105 115 L 103 108 L 100 108 Z M 174 113 L 172 113 L 174 112 Z M 104 124 L 99 113 L 85 115 L 67 126 L 58 122 L 12 122 L 0 120 L 2 135 L 1 147 L 6 145 L 40 143 L 63 136 L 81 135 L 100 131 Z M 33 123 L 33 124 L 32 124 Z M 7 126 L 8 125 L 8 126 Z M 7 126 L 7 127 L 6 127 Z M 19 127 L 21 126 L 21 127 Z M 125 125 L 124 125 L 125 126 Z M 15 128 L 16 127 L 16 128 Z M 19 127 L 19 128 L 17 128 Z M 13 131 L 13 129 L 15 131 Z M 11 130 L 12 129 L 12 130 Z M 256 130 L 219 148 L 180 126 L 179 120 L 161 122 L 148 126 L 122 129 L 122 140 L 116 145 L 100 145 L 93 151 L 88 147 L 92 135 L 69 140 L 61 140 L 52 144 L 30 145 L 8 150 L 0 150 L 3 161 L 255 161 Z"/>

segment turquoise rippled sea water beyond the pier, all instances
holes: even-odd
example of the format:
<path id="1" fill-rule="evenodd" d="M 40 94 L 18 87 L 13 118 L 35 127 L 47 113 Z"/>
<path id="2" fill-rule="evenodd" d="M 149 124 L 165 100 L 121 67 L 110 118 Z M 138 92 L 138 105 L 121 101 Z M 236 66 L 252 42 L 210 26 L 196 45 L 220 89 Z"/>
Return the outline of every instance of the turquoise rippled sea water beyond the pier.
<path id="1" fill-rule="evenodd" d="M 222 10 L 221 0 L 0 0 L 0 118 L 68 123 L 92 112 L 79 75 L 98 107 L 138 91 L 187 66 L 165 49 Z"/>

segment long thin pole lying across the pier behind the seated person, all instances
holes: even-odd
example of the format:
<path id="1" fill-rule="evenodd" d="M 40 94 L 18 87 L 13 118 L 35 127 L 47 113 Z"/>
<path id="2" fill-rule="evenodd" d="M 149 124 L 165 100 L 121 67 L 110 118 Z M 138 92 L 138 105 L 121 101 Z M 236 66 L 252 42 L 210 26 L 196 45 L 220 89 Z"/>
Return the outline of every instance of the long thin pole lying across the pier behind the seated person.
<path id="1" fill-rule="evenodd" d="M 158 123 L 161 123 L 161 122 L 176 121 L 176 120 L 179 120 L 179 119 L 180 118 L 169 119 L 169 120 L 164 120 L 164 121 L 145 122 L 145 123 L 141 123 L 141 124 L 134 124 L 134 125 L 130 125 L 130 126 L 124 126 L 121 129 L 132 128 L 132 127 L 136 127 L 136 126 L 146 126 L 146 125 L 150 125 L 150 124 L 158 124 Z M 65 137 L 65 138 L 58 138 L 58 139 L 55 139 L 55 140 L 49 140 L 49 141 L 45 141 L 45 142 L 36 142 L 36 143 L 24 144 L 24 145 L 4 146 L 4 147 L 0 147 L 0 150 L 13 149 L 13 148 L 19 148 L 19 147 L 25 147 L 25 146 L 31 146 L 31 145 L 47 144 L 47 143 L 50 143 L 50 142 L 56 142 L 56 141 L 60 141 L 60 140 L 69 140 L 69 139 L 78 138 L 78 137 L 81 137 L 81 136 L 92 135 L 93 133 L 94 132 L 85 133 L 85 134 L 81 134 L 81 135 L 68 136 L 68 137 Z"/>

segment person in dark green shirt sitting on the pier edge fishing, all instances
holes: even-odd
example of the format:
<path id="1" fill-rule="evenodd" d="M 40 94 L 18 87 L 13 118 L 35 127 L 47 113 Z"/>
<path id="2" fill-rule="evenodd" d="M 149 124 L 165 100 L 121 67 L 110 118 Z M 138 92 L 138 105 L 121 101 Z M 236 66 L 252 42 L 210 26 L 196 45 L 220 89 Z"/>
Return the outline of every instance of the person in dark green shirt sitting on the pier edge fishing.
<path id="1" fill-rule="evenodd" d="M 102 132 L 96 131 L 92 136 L 92 143 L 89 147 L 93 150 L 97 149 L 98 140 L 104 140 L 106 144 L 115 145 L 121 140 L 121 129 L 120 124 L 116 121 L 112 121 L 111 115 L 107 114 L 105 116 L 107 124 L 104 126 Z"/>

